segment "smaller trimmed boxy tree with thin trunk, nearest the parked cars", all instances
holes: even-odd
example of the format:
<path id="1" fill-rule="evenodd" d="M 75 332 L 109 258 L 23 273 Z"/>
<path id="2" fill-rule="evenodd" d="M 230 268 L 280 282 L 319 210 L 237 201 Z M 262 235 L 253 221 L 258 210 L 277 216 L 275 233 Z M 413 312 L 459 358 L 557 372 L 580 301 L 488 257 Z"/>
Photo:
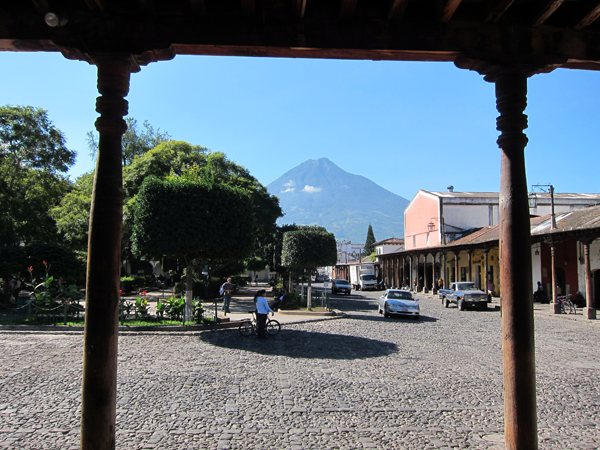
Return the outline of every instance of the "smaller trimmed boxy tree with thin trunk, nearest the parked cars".
<path id="1" fill-rule="evenodd" d="M 311 275 L 321 266 L 337 262 L 335 235 L 324 227 L 301 226 L 283 235 L 281 262 L 292 271 L 308 274 L 307 308 L 311 309 Z"/>

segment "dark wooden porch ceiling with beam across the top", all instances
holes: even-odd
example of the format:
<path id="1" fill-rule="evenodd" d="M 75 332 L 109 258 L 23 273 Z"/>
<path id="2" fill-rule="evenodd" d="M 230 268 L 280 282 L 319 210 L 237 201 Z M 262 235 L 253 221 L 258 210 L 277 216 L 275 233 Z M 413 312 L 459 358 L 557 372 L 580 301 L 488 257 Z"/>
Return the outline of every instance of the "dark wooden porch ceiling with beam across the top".
<path id="1" fill-rule="evenodd" d="M 598 70 L 599 16 L 600 0 L 2 0 L 0 50 Z"/>

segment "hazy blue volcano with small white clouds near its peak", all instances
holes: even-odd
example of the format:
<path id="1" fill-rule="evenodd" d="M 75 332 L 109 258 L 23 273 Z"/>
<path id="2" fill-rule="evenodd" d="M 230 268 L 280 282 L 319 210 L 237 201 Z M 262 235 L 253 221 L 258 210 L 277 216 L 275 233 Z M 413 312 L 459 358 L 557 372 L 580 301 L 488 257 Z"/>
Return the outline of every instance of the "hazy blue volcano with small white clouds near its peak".
<path id="1" fill-rule="evenodd" d="M 356 243 L 365 241 L 369 223 L 377 240 L 404 237 L 404 209 L 409 201 L 327 158 L 300 164 L 267 189 L 279 197 L 285 213 L 279 224 L 317 224 L 336 239 Z"/>

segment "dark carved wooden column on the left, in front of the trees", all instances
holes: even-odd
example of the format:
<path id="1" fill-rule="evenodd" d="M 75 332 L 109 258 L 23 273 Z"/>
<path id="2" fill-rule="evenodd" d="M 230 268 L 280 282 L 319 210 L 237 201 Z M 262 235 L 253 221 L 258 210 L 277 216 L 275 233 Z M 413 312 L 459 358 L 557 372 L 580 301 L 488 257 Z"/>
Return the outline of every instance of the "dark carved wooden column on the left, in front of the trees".
<path id="1" fill-rule="evenodd" d="M 121 137 L 127 129 L 127 59 L 99 59 L 96 129 L 100 134 L 88 241 L 81 448 L 115 448 L 117 344 L 123 180 Z"/>

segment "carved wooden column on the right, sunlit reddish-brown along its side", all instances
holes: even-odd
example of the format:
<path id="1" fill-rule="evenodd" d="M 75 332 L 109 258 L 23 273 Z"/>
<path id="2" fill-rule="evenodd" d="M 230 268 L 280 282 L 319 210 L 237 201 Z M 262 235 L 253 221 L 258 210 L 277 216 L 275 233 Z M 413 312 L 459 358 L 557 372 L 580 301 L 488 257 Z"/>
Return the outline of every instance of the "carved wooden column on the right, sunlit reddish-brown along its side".
<path id="1" fill-rule="evenodd" d="M 507 450 L 536 450 L 535 345 L 531 296 L 531 232 L 525 146 L 527 74 L 500 69 L 496 85 L 496 124 L 501 132 L 500 279 L 504 439 Z"/>

